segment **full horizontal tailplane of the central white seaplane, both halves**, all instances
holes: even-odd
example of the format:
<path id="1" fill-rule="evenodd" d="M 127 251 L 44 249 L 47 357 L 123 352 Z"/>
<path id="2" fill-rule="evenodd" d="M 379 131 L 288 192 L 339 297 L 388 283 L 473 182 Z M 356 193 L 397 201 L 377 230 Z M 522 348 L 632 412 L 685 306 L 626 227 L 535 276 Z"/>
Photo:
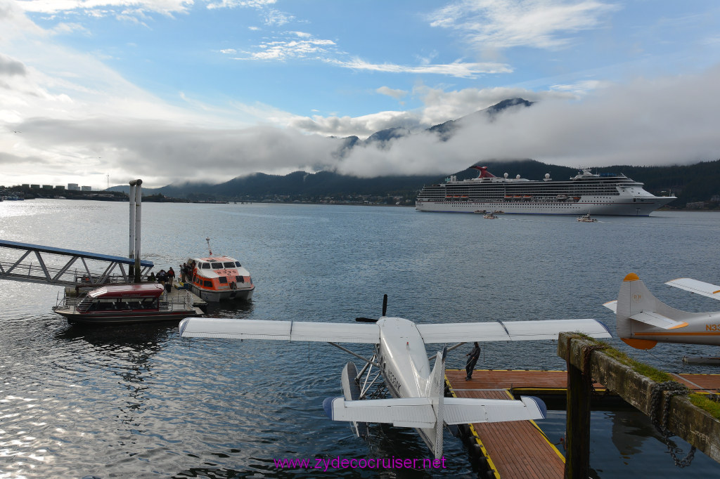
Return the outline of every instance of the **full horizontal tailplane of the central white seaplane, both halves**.
<path id="1" fill-rule="evenodd" d="M 400 427 L 431 428 L 437 415 L 431 398 L 392 398 L 346 401 L 327 398 L 325 414 L 333 421 L 379 422 Z M 437 408 L 437 404 L 436 404 Z M 445 424 L 545 419 L 545 404 L 532 396 L 505 399 L 443 398 Z"/>

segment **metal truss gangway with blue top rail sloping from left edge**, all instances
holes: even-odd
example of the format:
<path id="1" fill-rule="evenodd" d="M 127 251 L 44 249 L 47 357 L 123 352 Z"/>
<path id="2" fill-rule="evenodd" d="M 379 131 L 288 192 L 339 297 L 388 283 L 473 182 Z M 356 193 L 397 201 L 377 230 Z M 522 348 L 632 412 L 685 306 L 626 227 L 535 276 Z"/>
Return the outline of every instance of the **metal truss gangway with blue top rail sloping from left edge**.
<path id="1" fill-rule="evenodd" d="M 0 279 L 60 286 L 130 283 L 135 260 L 0 239 Z M 140 277 L 153 262 L 140 261 Z"/>

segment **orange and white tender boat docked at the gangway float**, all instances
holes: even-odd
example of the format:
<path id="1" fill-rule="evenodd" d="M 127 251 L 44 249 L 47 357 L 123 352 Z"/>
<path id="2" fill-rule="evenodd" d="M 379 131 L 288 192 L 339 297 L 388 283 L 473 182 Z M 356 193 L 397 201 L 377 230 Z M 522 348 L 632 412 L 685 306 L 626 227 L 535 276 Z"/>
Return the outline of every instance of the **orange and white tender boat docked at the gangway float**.
<path id="1" fill-rule="evenodd" d="M 205 301 L 248 301 L 253 297 L 255 285 L 250 273 L 234 257 L 215 256 L 210 252 L 208 257 L 189 258 L 187 263 L 192 265 L 192 273 L 187 278 L 190 291 Z"/>

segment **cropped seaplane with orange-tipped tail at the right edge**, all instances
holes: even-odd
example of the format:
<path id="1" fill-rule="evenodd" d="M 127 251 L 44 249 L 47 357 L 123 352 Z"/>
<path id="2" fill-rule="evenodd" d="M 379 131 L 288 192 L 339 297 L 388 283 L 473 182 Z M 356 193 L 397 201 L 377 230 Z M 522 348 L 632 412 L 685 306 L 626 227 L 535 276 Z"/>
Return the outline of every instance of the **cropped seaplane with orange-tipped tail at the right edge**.
<path id="1" fill-rule="evenodd" d="M 720 300 L 720 286 L 711 283 L 678 278 L 665 284 Z M 667 306 L 635 273 L 626 275 L 617 300 L 603 306 L 615 312 L 618 337 L 639 350 L 658 342 L 720 346 L 720 311 L 691 313 Z"/>

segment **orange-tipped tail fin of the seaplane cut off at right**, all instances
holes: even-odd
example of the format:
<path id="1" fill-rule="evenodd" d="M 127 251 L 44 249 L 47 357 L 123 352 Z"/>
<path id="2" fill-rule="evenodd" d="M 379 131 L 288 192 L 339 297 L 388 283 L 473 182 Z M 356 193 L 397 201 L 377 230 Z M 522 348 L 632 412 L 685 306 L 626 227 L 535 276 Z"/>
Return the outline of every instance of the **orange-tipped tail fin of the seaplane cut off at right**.
<path id="1" fill-rule="evenodd" d="M 622 339 L 632 337 L 631 320 L 660 329 L 677 329 L 688 325 L 685 319 L 689 316 L 685 311 L 667 306 L 655 298 L 635 273 L 626 275 L 623 280 L 618 293 L 615 314 L 618 337 Z M 634 339 L 634 341 L 639 340 Z M 647 349 L 647 347 L 641 349 Z"/>

